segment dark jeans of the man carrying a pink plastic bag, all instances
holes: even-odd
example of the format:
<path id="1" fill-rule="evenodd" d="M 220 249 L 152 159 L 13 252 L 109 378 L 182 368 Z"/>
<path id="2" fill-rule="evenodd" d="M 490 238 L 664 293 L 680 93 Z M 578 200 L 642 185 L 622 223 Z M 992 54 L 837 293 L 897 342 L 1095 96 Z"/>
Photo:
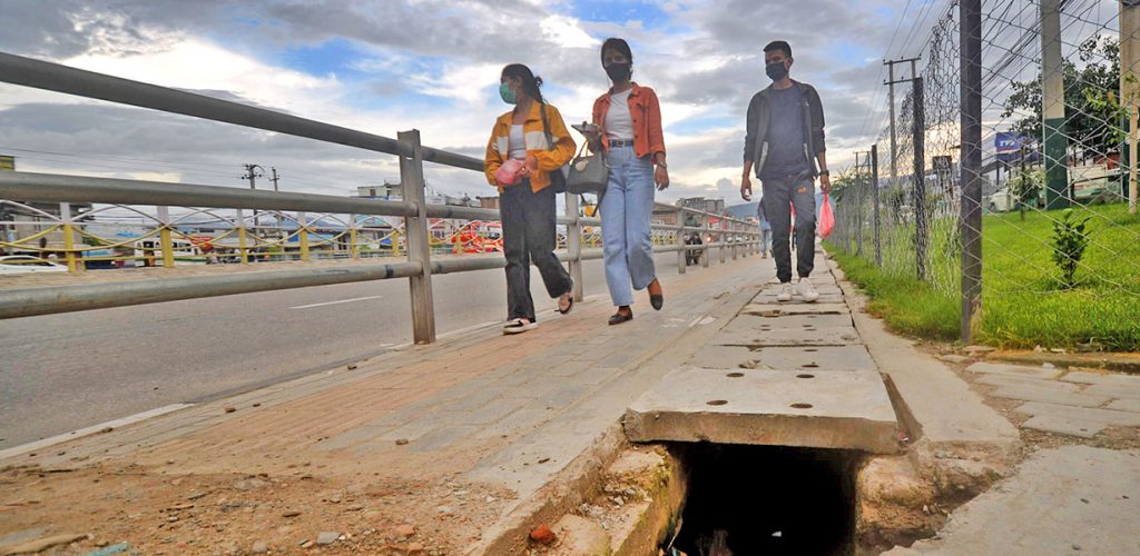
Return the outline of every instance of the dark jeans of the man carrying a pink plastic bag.
<path id="1" fill-rule="evenodd" d="M 791 206 L 796 207 L 796 271 L 801 278 L 812 275 L 815 259 L 815 185 L 811 179 L 768 178 L 764 188 L 764 215 L 772 224 L 772 256 L 776 278 L 791 281 Z"/>

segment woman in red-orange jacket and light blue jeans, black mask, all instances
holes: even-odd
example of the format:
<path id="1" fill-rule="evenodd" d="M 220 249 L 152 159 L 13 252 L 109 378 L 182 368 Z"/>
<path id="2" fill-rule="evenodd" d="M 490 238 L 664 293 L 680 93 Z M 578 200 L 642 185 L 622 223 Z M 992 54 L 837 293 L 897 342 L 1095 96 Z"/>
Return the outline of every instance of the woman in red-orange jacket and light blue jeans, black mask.
<path id="1" fill-rule="evenodd" d="M 594 124 L 600 131 L 591 137 L 595 147 L 605 150 L 610 165 L 601 212 L 605 281 L 618 308 L 610 317 L 611 325 L 634 318 L 629 306 L 633 289 L 649 289 L 656 310 L 665 303 L 650 237 L 653 186 L 658 190 L 669 187 L 661 105 L 653 89 L 630 81 L 633 60 L 626 41 L 606 39 L 602 43 L 602 66 L 613 87 L 594 101 Z"/>

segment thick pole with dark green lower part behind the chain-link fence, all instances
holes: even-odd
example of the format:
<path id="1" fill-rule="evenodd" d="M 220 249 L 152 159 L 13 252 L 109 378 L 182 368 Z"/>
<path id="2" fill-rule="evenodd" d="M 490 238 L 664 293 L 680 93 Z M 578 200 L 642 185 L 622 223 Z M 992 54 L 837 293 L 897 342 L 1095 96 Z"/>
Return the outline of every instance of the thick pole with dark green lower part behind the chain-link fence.
<path id="1" fill-rule="evenodd" d="M 1059 0 L 1041 0 L 1041 113 L 1044 130 L 1045 207 L 1069 205 L 1065 139 L 1065 71 Z"/>

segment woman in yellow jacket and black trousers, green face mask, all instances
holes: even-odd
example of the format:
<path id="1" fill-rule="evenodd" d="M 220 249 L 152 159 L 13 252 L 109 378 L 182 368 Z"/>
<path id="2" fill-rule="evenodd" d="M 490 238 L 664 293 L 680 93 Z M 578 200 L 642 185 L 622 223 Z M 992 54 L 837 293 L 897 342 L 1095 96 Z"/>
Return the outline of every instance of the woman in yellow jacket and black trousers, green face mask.
<path id="1" fill-rule="evenodd" d="M 504 103 L 514 105 L 514 109 L 495 121 L 483 158 L 487 180 L 499 190 L 503 218 L 507 299 L 503 334 L 519 334 L 538 326 L 530 297 L 531 262 L 543 275 L 546 292 L 559 299 L 559 312 L 565 314 L 573 306 L 573 281 L 554 255 L 556 208 L 549 174 L 570 162 L 577 146 L 557 108 L 543 100 L 538 90 L 542 84 L 542 77 L 522 64 L 503 68 L 499 96 Z M 546 139 L 547 128 L 554 145 Z M 516 162 L 507 167 L 519 163 L 521 167 L 516 174 L 504 177 L 499 169 L 511 160 Z M 504 178 L 506 182 L 500 181 Z"/>

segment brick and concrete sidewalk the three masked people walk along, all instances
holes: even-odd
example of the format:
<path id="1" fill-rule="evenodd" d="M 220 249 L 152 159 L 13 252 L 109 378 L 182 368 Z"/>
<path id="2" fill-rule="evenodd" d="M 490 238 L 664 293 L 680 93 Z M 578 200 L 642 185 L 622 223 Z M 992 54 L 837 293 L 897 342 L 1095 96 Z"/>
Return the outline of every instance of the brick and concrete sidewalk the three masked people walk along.
<path id="1" fill-rule="evenodd" d="M 662 280 L 663 311 L 640 297 L 621 326 L 605 325 L 608 300 L 588 300 L 565 317 L 540 314 L 521 336 L 469 330 L 10 457 L 0 461 L 0 547 L 56 537 L 59 554 L 109 542 L 145 554 L 519 554 L 536 525 L 575 517 L 627 434 L 855 450 L 855 540 L 863 550 L 911 545 L 1010 475 L 1018 431 L 950 367 L 868 317 L 841 271 L 816 261 L 822 299 L 812 305 L 775 303 L 771 261 L 691 268 Z M 706 376 L 731 386 L 686 392 L 685 381 L 705 386 Z M 856 383 L 858 403 L 833 392 Z M 653 394 L 662 385 L 693 394 L 695 414 L 716 414 L 706 400 L 718 398 L 727 412 L 717 418 L 732 423 L 646 426 L 663 415 Z M 736 407 L 751 409 L 728 415 Z M 805 430 L 805 419 L 822 420 Z M 1019 520 L 1072 509 L 1066 485 L 1082 481 L 1110 512 L 1131 508 L 1140 496 L 1112 498 L 1112 474 L 1097 469 L 1131 476 L 1137 459 L 1042 453 L 1000 493 L 954 512 L 947 537 L 913 549 L 1003 553 L 1008 537 L 977 529 L 1001 523 L 1024 542 L 1041 528 Z M 1073 482 L 1034 486 L 1058 466 L 1074 468 Z M 1100 515 L 1068 509 L 1044 529 Z M 1140 525 L 1135 515 L 1112 521 L 1109 539 L 1061 543 L 1134 548 L 1119 531 Z"/>

